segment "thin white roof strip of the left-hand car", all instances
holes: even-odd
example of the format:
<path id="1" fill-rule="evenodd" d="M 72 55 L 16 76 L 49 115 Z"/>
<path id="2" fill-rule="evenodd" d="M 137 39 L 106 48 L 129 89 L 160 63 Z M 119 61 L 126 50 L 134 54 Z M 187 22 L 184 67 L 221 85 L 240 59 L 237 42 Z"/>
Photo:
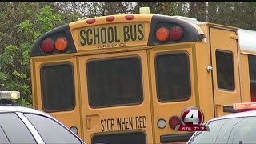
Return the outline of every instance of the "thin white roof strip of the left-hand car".
<path id="1" fill-rule="evenodd" d="M 49 114 L 45 114 L 42 111 L 35 110 L 28 107 L 22 106 L 0 106 L 0 113 L 2 112 L 22 112 L 22 113 L 33 113 L 33 114 L 41 114 L 46 117 L 52 118 Z"/>

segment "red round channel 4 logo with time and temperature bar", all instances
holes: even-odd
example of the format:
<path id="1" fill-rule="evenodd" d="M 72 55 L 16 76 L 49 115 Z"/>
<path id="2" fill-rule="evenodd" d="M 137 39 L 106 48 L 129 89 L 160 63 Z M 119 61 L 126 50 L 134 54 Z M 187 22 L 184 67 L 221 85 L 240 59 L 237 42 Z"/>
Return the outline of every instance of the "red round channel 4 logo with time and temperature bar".
<path id="1" fill-rule="evenodd" d="M 176 131 L 210 131 L 208 126 L 202 125 L 204 116 L 202 110 L 190 106 L 182 111 L 181 125 L 175 127 Z"/>

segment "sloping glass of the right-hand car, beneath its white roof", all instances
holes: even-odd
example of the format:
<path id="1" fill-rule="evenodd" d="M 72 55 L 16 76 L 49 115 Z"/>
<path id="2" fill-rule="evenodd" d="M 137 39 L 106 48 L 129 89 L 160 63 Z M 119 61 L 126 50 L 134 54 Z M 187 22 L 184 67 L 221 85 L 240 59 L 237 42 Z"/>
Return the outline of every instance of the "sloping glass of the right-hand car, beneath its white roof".
<path id="1" fill-rule="evenodd" d="M 207 122 L 210 131 L 199 131 L 188 143 L 256 143 L 256 117 L 226 118 Z"/>

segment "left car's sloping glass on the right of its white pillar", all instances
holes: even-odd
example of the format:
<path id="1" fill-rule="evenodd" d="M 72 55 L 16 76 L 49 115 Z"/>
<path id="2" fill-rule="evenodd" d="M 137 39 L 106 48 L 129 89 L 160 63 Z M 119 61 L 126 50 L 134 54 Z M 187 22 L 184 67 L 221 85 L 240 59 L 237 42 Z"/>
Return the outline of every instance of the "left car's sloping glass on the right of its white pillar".
<path id="1" fill-rule="evenodd" d="M 81 143 L 69 130 L 50 118 L 36 114 L 24 114 L 45 143 Z"/>

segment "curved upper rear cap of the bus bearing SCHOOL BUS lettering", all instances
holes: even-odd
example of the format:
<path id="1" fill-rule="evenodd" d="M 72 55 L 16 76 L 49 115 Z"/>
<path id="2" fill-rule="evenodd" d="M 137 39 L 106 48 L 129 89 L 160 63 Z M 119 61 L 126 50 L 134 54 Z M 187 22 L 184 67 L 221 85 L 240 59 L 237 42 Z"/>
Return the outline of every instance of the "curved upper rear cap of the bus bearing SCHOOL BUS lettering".
<path id="1" fill-rule="evenodd" d="M 160 42 L 158 30 L 170 30 L 174 38 Z M 91 52 L 106 48 L 156 46 L 182 42 L 202 42 L 200 26 L 182 18 L 160 14 L 118 14 L 70 22 L 43 34 L 34 43 L 31 57 Z M 59 40 L 61 39 L 61 40 Z M 57 50 L 54 42 L 66 42 Z M 123 48 L 122 48 L 123 50 Z"/>

